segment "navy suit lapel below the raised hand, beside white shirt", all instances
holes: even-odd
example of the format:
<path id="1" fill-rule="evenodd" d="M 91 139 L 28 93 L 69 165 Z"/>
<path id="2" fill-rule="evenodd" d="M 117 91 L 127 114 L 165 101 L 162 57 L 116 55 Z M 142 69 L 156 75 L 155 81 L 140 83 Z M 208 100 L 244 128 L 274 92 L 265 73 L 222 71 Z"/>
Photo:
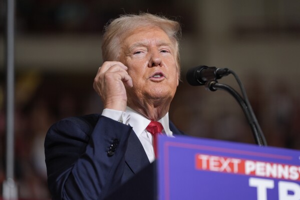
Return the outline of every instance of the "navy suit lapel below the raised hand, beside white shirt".
<path id="1" fill-rule="evenodd" d="M 131 131 L 128 138 L 125 161 L 133 173 L 150 164 L 144 147 L 134 131 Z"/>

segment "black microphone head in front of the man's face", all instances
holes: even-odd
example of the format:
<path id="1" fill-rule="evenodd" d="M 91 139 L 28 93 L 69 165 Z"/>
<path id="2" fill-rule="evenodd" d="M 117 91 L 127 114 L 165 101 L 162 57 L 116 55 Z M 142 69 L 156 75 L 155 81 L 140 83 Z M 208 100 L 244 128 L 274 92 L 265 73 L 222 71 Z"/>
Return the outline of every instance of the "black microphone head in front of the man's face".
<path id="1" fill-rule="evenodd" d="M 207 81 L 215 81 L 227 75 L 229 75 L 229 69 L 227 68 L 200 65 L 188 70 L 186 73 L 186 80 L 192 86 L 199 86 L 205 85 Z"/>

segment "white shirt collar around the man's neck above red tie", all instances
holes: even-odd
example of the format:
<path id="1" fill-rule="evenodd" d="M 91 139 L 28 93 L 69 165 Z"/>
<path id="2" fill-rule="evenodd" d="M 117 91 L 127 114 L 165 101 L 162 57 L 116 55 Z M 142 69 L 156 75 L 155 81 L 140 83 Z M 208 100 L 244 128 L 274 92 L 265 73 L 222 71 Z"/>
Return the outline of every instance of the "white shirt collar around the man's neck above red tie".
<path id="1" fill-rule="evenodd" d="M 130 116 L 129 118 L 129 125 L 132 126 L 132 129 L 139 137 L 142 132 L 146 129 L 148 124 L 151 120 L 147 119 L 145 116 L 141 115 L 140 113 L 134 111 L 130 107 L 126 107 L 126 114 Z M 169 127 L 169 113 L 163 116 L 161 119 L 158 120 L 163 126 L 163 132 L 166 133 L 167 136 L 172 136 L 173 133 Z"/>

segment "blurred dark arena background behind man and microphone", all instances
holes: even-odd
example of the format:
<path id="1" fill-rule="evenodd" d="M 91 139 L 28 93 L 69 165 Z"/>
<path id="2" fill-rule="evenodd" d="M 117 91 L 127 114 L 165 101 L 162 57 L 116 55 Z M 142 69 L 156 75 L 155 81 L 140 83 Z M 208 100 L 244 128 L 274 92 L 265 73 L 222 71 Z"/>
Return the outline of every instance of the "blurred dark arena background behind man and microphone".
<path id="1" fill-rule="evenodd" d="M 56 121 L 101 113 L 93 79 L 103 26 L 120 14 L 182 24 L 182 82 L 170 118 L 191 136 L 254 144 L 235 100 L 189 86 L 198 65 L 238 74 L 270 146 L 300 149 L 300 1 L 16 0 L 15 175 L 21 199 L 50 199 L 44 138 Z M 0 184 L 5 179 L 6 2 L 0 0 Z M 219 80 L 238 90 L 233 76 Z M 0 189 L 2 190 L 2 188 Z M 2 193 L 2 191 L 1 191 Z"/>

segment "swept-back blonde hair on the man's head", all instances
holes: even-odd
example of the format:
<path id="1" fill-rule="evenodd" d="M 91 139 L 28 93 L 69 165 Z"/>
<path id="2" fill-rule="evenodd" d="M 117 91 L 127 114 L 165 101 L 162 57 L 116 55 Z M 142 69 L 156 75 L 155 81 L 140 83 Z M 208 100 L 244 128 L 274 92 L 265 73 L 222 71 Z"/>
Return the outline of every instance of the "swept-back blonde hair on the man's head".
<path id="1" fill-rule="evenodd" d="M 104 28 L 102 42 L 102 58 L 105 61 L 118 60 L 120 57 L 121 41 L 135 29 L 142 27 L 158 27 L 163 30 L 174 43 L 176 65 L 180 73 L 179 39 L 181 38 L 181 27 L 176 21 L 169 20 L 162 16 L 149 13 L 139 15 L 121 15 L 112 20 Z"/>

